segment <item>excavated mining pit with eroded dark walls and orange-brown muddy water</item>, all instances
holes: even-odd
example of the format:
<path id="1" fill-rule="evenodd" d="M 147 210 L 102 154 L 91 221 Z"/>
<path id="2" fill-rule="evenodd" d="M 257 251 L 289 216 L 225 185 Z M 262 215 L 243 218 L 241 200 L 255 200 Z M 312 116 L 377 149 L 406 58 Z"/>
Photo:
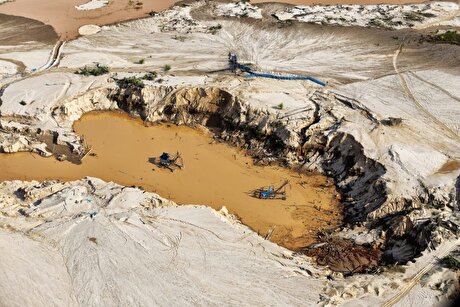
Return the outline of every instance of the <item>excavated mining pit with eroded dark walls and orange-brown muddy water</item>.
<path id="1" fill-rule="evenodd" d="M 413 223 L 406 216 L 430 202 L 429 191 L 417 199 L 388 199 L 382 179 L 386 172 L 384 166 L 366 157 L 362 145 L 351 135 L 337 131 L 337 122 L 322 130 L 310 129 L 331 116 L 322 109 L 321 103 L 317 104 L 313 118 L 293 131 L 278 122 L 273 114 L 253 109 L 219 88 L 130 87 L 105 91 L 104 99 L 108 102 L 104 104 L 98 101 L 104 99 L 96 97 L 88 98 L 89 107 L 76 102 L 79 112 L 106 110 L 115 102 L 119 109 L 139 116 L 144 122 L 127 121 L 113 113 L 86 115 L 76 123 L 75 130 L 85 134 L 96 155 L 88 155 L 81 166 L 30 154 L 2 155 L 0 166 L 12 171 L 8 176 L 3 173 L 0 180 L 70 180 L 92 175 L 124 185 L 142 186 L 179 203 L 207 204 L 216 209 L 225 205 L 243 223 L 262 235 L 271 236 L 272 241 L 302 250 L 320 264 L 346 273 L 369 270 L 383 263 L 405 263 L 430 245 L 437 227 L 435 221 Z M 354 108 L 352 102 L 337 101 Z M 72 112 L 67 106 L 54 110 L 56 118 L 65 119 L 69 113 Z M 120 126 L 112 126 L 118 125 L 117 122 Z M 143 123 L 201 126 L 212 131 L 212 136 L 176 125 L 146 128 Z M 139 130 L 128 129 L 133 126 Z M 104 136 L 104 133 L 112 136 Z M 221 140 L 233 147 L 209 144 L 211 140 Z M 59 138 L 57 141 L 59 143 Z M 127 142 L 125 146 L 122 141 Z M 113 144 L 109 145 L 110 142 Z M 148 158 L 161 154 L 166 147 L 172 152 L 180 148 L 186 155 L 183 171 L 163 172 L 149 164 Z M 15 159 L 18 163 L 13 166 Z M 15 171 L 15 167 L 23 167 L 24 161 L 32 169 L 42 165 L 41 172 Z M 214 162 L 208 164 L 208 161 Z M 117 163 L 132 165 L 136 171 L 130 173 Z M 224 164 L 234 168 L 233 177 L 221 171 Z M 273 165 L 289 166 L 291 170 Z M 107 169 L 110 176 L 104 175 Z M 43 176 L 49 170 L 56 172 L 54 176 Z M 304 175 L 312 171 L 321 171 L 333 178 L 333 183 L 325 176 Z M 23 174 L 28 177 L 24 178 Z M 210 177 L 206 178 L 205 174 Z M 291 197 L 287 201 L 266 202 L 247 195 L 251 189 L 283 179 L 291 180 L 291 190 L 288 190 Z M 188 186 L 189 183 L 193 184 Z M 333 185 L 341 195 L 340 209 Z M 379 239 L 357 245 L 337 236 L 334 230 L 339 227 L 375 230 Z M 309 246 L 313 242 L 322 244 Z"/>

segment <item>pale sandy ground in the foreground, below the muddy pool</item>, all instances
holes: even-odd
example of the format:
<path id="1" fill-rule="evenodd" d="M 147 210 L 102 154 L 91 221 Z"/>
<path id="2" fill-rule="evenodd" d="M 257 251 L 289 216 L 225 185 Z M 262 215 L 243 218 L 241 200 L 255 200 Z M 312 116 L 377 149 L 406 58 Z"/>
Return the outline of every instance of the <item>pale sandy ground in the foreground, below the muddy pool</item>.
<path id="1" fill-rule="evenodd" d="M 397 295 L 401 281 L 423 268 L 433 268 L 435 279 L 451 274 L 431 264 L 455 246 L 426 252 L 405 273 L 328 280 L 327 270 L 264 240 L 225 209 L 176 206 L 96 178 L 5 182 L 0 200 L 5 306 L 369 306 Z M 430 290 L 416 287 L 406 300 L 440 294 L 420 299 L 420 291 Z"/>

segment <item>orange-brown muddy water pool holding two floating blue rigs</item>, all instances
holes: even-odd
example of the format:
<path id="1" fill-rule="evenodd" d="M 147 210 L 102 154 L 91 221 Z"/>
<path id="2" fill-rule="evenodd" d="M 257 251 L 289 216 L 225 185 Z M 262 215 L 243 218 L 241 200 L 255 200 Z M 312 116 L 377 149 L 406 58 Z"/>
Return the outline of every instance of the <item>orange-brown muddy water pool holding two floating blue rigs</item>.
<path id="1" fill-rule="evenodd" d="M 277 166 L 255 166 L 235 147 L 218 143 L 204 129 L 185 126 L 146 127 L 119 112 L 84 115 L 74 125 L 92 147 L 82 164 L 59 162 L 31 153 L 0 154 L 0 181 L 63 180 L 98 177 L 122 185 L 141 186 L 178 204 L 227 207 L 241 222 L 290 249 L 316 240 L 320 230 L 337 227 L 340 204 L 331 181 Z M 183 170 L 170 172 L 149 162 L 163 151 L 179 151 Z M 287 200 L 261 200 L 248 193 L 289 180 Z"/>

